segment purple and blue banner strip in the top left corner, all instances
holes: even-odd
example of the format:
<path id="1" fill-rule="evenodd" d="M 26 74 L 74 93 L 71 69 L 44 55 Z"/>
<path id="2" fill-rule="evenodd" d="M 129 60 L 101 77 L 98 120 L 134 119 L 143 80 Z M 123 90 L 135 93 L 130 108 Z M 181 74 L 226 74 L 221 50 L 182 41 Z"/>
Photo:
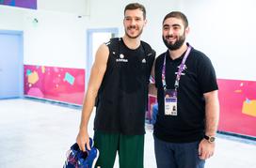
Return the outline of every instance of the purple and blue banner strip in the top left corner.
<path id="1" fill-rule="evenodd" d="M 37 0 L 0 0 L 0 5 L 37 9 Z"/>

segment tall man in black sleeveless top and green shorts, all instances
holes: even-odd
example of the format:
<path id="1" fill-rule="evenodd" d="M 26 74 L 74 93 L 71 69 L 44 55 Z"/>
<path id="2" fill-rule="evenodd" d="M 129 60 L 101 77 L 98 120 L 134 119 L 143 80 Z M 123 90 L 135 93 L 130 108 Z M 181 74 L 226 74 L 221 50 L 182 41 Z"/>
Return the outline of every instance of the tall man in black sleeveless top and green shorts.
<path id="1" fill-rule="evenodd" d="M 91 69 L 76 142 L 89 147 L 88 120 L 94 104 L 94 142 L 100 151 L 96 166 L 143 168 L 144 122 L 148 84 L 155 53 L 140 40 L 146 10 L 137 3 L 124 9 L 123 38 L 111 38 L 98 49 Z"/>

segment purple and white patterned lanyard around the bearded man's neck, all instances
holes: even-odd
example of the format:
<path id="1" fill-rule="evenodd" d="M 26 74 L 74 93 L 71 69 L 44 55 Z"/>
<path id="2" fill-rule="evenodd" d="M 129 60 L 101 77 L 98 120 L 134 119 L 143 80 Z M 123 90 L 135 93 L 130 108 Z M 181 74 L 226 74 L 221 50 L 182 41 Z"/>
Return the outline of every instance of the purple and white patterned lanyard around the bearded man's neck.
<path id="1" fill-rule="evenodd" d="M 174 83 L 175 90 L 177 90 L 177 88 L 179 87 L 179 81 L 181 79 L 182 72 L 185 68 L 184 62 L 185 62 L 188 54 L 190 53 L 191 48 L 192 47 L 190 45 L 188 45 L 188 48 L 187 48 L 186 52 L 184 53 L 184 58 L 183 58 L 182 64 L 179 67 L 179 70 L 178 70 L 178 73 L 177 73 L 177 76 L 176 76 L 176 80 L 175 80 L 175 83 Z M 163 65 L 163 69 L 162 69 L 162 83 L 163 83 L 164 90 L 167 89 L 166 64 L 167 64 L 167 53 L 165 54 L 164 65 Z"/>

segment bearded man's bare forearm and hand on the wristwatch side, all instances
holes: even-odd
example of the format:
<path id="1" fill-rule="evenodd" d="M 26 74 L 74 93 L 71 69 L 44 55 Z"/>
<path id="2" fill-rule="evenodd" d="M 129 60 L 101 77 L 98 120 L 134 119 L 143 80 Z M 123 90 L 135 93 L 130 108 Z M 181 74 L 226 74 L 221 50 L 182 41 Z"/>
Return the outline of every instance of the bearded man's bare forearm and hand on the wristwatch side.
<path id="1" fill-rule="evenodd" d="M 203 94 L 205 99 L 205 135 L 215 137 L 219 118 L 219 102 L 217 90 Z M 200 159 L 206 160 L 214 155 L 215 142 L 203 138 L 200 142 Z"/>

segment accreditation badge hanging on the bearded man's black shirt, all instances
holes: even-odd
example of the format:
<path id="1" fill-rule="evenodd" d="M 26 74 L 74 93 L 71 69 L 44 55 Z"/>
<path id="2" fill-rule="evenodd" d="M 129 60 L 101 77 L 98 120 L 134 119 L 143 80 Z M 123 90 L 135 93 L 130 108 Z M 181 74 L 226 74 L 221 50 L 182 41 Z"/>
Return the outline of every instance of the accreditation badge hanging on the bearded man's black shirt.
<path id="1" fill-rule="evenodd" d="M 177 91 L 174 89 L 165 91 L 165 115 L 177 115 Z"/>

